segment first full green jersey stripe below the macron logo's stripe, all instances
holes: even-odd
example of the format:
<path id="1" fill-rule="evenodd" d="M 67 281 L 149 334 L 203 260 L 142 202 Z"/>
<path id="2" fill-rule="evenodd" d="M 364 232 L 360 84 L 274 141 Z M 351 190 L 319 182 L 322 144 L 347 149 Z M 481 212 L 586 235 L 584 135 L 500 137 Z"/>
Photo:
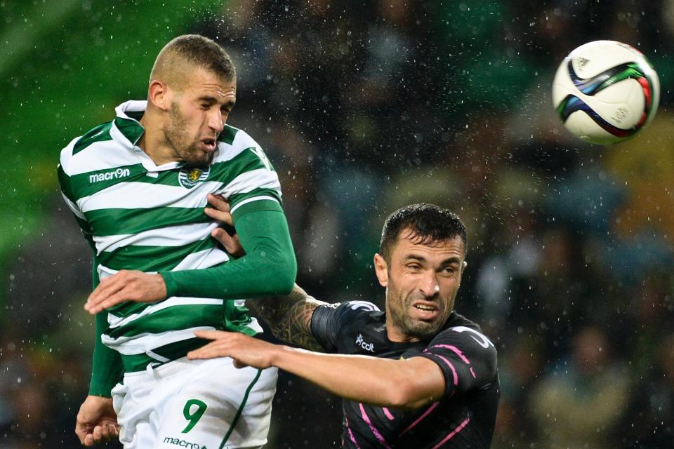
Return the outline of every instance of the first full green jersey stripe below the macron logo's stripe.
<path id="1" fill-rule="evenodd" d="M 98 209 L 84 213 L 98 236 L 138 234 L 176 225 L 211 222 L 204 208 Z"/>

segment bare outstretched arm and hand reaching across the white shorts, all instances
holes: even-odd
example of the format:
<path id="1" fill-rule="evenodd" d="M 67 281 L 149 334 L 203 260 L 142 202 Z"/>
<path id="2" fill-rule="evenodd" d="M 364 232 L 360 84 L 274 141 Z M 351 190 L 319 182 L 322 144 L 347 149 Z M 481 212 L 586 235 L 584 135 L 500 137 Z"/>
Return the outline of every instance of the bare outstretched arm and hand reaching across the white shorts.
<path id="1" fill-rule="evenodd" d="M 322 354 L 217 330 L 196 335 L 213 341 L 188 353 L 188 358 L 230 356 L 239 367 L 276 366 L 352 401 L 419 408 L 437 401 L 445 391 L 442 370 L 427 358 Z"/>

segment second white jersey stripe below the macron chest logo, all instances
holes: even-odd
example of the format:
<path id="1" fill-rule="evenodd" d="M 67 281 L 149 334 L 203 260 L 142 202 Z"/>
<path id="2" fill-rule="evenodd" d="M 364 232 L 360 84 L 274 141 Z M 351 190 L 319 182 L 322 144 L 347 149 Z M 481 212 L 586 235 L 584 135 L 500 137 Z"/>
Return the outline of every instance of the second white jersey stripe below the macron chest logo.
<path id="1" fill-rule="evenodd" d="M 171 227 L 159 227 L 138 234 L 119 234 L 116 236 L 93 236 L 98 255 L 124 246 L 185 246 L 206 239 L 217 223 L 194 223 Z"/>

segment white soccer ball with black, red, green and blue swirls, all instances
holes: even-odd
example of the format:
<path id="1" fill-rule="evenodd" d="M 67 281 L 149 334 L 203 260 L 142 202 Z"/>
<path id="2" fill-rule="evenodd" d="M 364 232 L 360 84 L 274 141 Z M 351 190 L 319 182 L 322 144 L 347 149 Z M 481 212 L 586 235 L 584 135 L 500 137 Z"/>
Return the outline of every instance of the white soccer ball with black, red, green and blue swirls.
<path id="1" fill-rule="evenodd" d="M 636 48 L 594 41 L 564 58 L 553 81 L 553 103 L 564 126 L 586 142 L 621 142 L 655 116 L 660 81 Z"/>

